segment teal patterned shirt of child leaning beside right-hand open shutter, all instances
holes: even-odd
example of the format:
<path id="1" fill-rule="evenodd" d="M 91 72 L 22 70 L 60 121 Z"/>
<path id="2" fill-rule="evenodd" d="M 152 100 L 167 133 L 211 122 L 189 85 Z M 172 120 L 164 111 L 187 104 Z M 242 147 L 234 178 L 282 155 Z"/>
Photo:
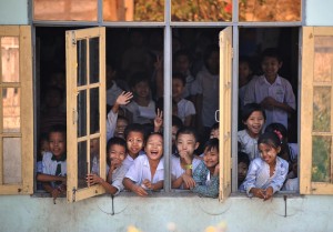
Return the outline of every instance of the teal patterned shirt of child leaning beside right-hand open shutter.
<path id="1" fill-rule="evenodd" d="M 218 164 L 214 170 L 214 174 L 211 176 L 210 183 L 206 185 L 206 172 L 204 171 L 204 163 L 202 162 L 194 171 L 193 179 L 195 180 L 195 186 L 193 192 L 209 198 L 216 198 L 219 195 L 219 173 L 220 165 Z M 202 183 L 204 182 L 204 183 Z"/>

